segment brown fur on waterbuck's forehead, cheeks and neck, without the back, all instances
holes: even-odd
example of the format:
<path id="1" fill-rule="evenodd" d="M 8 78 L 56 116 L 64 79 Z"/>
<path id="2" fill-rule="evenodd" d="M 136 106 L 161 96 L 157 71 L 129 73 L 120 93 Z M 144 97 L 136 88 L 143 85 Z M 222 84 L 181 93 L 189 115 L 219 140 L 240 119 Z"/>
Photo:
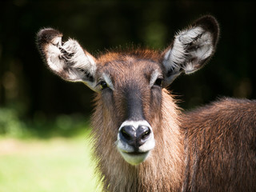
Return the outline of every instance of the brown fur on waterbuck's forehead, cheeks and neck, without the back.
<path id="1" fill-rule="evenodd" d="M 117 87 L 113 95 L 97 94 L 94 100 L 92 138 L 95 157 L 98 161 L 98 172 L 102 175 L 104 190 L 178 191 L 181 188 L 184 167 L 183 139 L 178 131 L 177 106 L 175 106 L 173 98 L 168 96 L 166 90 L 162 90 L 162 93 L 161 90 L 160 93 L 155 91 L 153 93 L 155 95 L 149 97 L 146 93 L 150 95 L 148 93 L 150 90 L 143 87 L 145 78 L 142 76 L 142 71 L 150 76 L 151 70 L 160 67 L 158 66 L 159 57 L 155 57 L 155 54 L 150 50 L 136 50 L 130 51 L 126 55 L 108 53 L 105 55 L 106 57 L 98 59 L 98 65 L 102 66 L 99 67 L 99 74 L 102 73 L 102 70 L 109 70 L 115 83 L 114 86 Z M 145 67 L 145 65 L 147 66 Z M 146 77 L 146 80 L 148 78 L 150 77 Z M 154 133 L 157 133 L 155 134 L 156 147 L 150 155 L 150 160 L 138 166 L 131 166 L 125 162 L 114 144 L 118 127 L 125 118 L 122 96 L 123 90 L 130 84 L 129 82 L 141 90 L 146 120 L 150 122 Z M 166 111 L 166 114 L 162 113 L 162 110 Z M 169 135 L 174 137 L 170 138 Z M 160 167 L 162 167 L 160 169 L 162 171 L 159 171 Z M 168 169 L 166 169 L 167 167 Z M 170 177 L 170 175 L 173 176 Z"/>

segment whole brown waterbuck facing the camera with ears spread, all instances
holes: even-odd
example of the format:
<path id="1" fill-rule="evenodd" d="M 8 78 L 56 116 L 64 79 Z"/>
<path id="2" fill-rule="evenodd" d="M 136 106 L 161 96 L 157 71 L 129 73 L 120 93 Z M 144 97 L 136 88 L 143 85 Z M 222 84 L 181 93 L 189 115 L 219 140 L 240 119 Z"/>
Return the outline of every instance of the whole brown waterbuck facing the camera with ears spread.
<path id="1" fill-rule="evenodd" d="M 104 191 L 256 191 L 256 102 L 222 98 L 182 113 L 166 90 L 206 64 L 218 35 L 206 15 L 164 51 L 94 57 L 58 30 L 38 32 L 50 70 L 96 92 L 92 137 Z"/>

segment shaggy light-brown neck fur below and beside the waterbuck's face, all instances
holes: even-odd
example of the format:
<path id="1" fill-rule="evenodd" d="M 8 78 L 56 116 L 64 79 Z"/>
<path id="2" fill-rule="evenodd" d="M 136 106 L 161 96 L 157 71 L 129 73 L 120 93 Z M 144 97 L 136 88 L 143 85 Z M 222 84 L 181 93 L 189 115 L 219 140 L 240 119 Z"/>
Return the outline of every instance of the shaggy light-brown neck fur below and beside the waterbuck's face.
<path id="1" fill-rule="evenodd" d="M 150 158 L 138 166 L 125 162 L 114 145 L 118 133 L 118 121 L 111 113 L 114 111 L 104 109 L 107 104 L 102 103 L 100 95 L 94 102 L 93 149 L 104 190 L 179 191 L 185 168 L 183 138 L 178 126 L 179 112 L 168 92 L 162 90 L 162 114 L 150 121 L 155 133 L 155 149 Z"/>

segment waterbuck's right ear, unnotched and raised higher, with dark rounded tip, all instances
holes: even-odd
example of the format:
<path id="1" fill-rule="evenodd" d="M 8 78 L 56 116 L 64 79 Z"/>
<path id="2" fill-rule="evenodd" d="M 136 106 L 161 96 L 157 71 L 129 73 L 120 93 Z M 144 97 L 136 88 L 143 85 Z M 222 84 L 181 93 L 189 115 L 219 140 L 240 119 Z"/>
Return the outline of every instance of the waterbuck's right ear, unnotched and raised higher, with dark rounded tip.
<path id="1" fill-rule="evenodd" d="M 165 86 L 179 74 L 192 74 L 206 64 L 214 54 L 219 27 L 213 16 L 199 18 L 193 25 L 178 32 L 174 42 L 162 54 L 166 70 Z"/>

